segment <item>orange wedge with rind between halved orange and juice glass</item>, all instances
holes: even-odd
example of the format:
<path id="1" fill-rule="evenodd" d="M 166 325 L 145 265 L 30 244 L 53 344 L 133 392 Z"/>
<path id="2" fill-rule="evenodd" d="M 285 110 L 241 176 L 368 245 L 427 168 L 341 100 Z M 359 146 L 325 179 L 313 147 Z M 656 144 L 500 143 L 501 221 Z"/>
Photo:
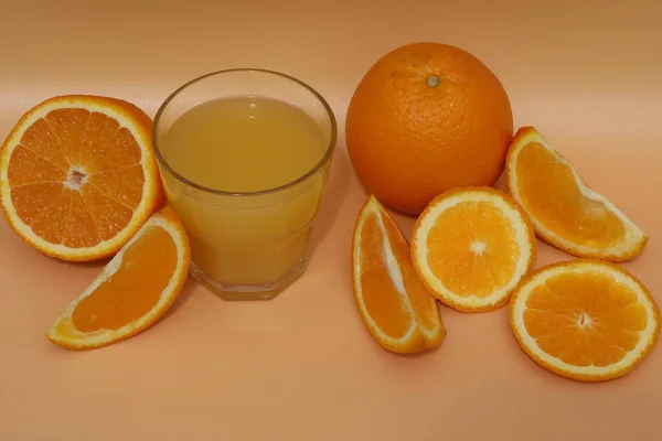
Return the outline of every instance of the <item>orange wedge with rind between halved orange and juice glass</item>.
<path id="1" fill-rule="evenodd" d="M 139 333 L 177 299 L 189 258 L 184 227 L 167 206 L 115 255 L 46 336 L 62 347 L 90 349 Z"/>

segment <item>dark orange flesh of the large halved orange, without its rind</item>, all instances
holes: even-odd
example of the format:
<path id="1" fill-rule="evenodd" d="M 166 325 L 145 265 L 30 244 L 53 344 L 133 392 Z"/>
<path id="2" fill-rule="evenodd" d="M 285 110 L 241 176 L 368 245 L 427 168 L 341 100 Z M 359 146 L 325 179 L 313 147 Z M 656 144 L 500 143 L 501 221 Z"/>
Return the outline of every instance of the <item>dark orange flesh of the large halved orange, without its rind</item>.
<path id="1" fill-rule="evenodd" d="M 130 222 L 142 198 L 140 159 L 140 147 L 115 119 L 85 109 L 53 110 L 25 130 L 12 153 L 13 206 L 52 244 L 94 246 Z M 75 174 L 79 187 L 65 185 Z"/>

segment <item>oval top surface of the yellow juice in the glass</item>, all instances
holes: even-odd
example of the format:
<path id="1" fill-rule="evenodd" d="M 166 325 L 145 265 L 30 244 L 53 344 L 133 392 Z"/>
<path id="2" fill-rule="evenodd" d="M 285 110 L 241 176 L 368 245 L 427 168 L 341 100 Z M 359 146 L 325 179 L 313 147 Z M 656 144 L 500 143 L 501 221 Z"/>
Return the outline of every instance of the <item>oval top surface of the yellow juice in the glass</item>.
<path id="1" fill-rule="evenodd" d="M 302 109 L 238 96 L 188 110 L 161 140 L 166 161 L 186 180 L 225 192 L 256 192 L 292 182 L 325 151 L 324 135 Z"/>

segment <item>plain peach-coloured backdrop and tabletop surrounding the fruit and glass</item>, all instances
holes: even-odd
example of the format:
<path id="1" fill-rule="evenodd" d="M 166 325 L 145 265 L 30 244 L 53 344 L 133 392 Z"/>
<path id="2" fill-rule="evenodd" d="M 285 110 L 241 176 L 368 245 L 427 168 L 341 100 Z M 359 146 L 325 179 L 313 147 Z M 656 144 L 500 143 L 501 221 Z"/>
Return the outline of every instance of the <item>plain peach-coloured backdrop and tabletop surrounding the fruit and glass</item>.
<path id="1" fill-rule="evenodd" d="M 0 138 L 52 95 L 113 95 L 153 116 L 172 89 L 210 71 L 295 75 L 328 98 L 341 126 L 306 277 L 266 303 L 226 303 L 189 282 L 139 336 L 67 352 L 44 332 L 102 263 L 43 257 L 0 222 L 0 439 L 662 437 L 661 347 L 627 378 L 584 385 L 530 362 L 504 310 L 444 308 L 441 347 L 414 357 L 381 349 L 352 301 L 350 236 L 365 194 L 342 133 L 354 87 L 385 52 L 424 40 L 472 52 L 503 82 L 515 125 L 535 125 L 651 235 L 623 266 L 662 303 L 659 1 L 220 3 L 0 0 Z M 412 219 L 397 219 L 408 232 Z M 538 265 L 562 259 L 541 246 Z"/>

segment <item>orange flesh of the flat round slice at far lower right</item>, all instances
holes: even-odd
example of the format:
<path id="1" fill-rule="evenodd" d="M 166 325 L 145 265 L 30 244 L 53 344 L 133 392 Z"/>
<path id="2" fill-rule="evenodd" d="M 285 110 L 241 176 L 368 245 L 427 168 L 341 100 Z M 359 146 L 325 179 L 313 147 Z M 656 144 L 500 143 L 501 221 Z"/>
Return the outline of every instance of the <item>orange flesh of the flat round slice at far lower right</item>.
<path id="1" fill-rule="evenodd" d="M 647 327 L 637 295 L 597 271 L 562 273 L 534 288 L 524 325 L 547 354 L 574 366 L 608 366 L 632 351 Z"/>

